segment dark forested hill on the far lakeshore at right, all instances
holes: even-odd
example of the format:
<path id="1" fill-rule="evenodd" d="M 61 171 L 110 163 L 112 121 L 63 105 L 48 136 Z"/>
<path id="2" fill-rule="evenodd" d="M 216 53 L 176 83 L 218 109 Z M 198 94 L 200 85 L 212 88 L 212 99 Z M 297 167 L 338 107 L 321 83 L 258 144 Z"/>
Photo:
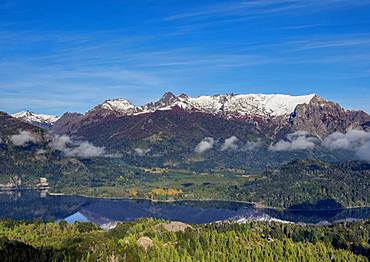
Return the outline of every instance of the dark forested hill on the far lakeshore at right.
<path id="1" fill-rule="evenodd" d="M 228 190 L 230 195 L 240 200 L 271 207 L 314 205 L 325 199 L 344 207 L 368 206 L 370 166 L 358 162 L 344 165 L 311 160 L 294 161 Z"/>

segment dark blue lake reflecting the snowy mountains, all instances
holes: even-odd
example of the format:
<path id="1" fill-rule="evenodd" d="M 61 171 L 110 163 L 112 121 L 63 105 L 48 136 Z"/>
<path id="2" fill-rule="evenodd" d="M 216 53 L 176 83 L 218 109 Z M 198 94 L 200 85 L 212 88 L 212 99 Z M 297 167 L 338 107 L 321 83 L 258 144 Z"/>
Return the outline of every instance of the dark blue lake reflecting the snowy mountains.
<path id="1" fill-rule="evenodd" d="M 90 221 L 109 226 L 117 221 L 161 218 L 203 224 L 221 220 L 284 220 L 294 223 L 323 223 L 369 219 L 370 208 L 321 211 L 276 211 L 224 201 L 178 201 L 102 199 L 81 196 L 48 195 L 36 190 L 0 192 L 0 219 Z"/>

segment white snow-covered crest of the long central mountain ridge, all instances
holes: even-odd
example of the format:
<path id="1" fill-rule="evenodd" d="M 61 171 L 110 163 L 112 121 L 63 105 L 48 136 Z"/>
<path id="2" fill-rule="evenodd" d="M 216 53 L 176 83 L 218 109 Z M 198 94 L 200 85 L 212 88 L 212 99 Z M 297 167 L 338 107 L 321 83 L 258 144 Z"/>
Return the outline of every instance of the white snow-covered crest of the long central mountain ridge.
<path id="1" fill-rule="evenodd" d="M 226 94 L 214 96 L 189 97 L 186 94 L 175 96 L 167 92 L 157 102 L 144 106 L 134 106 L 129 101 L 119 98 L 105 101 L 90 110 L 88 114 L 104 111 L 104 115 L 133 115 L 181 108 L 187 111 L 199 111 L 224 116 L 277 117 L 290 115 L 299 104 L 308 104 L 314 94 L 290 96 L 282 94 Z M 99 114 L 101 115 L 101 114 Z"/>

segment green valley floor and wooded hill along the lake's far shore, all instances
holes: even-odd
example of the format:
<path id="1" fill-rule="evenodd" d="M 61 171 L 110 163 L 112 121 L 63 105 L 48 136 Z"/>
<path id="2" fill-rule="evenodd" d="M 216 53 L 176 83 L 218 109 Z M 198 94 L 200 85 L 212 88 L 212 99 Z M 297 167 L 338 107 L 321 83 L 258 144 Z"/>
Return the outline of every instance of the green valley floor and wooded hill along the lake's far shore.
<path id="1" fill-rule="evenodd" d="M 370 165 L 361 162 L 293 161 L 278 169 L 248 175 L 171 170 L 160 174 L 133 172 L 123 177 L 125 181 L 115 186 L 104 182 L 105 186 L 59 190 L 101 197 L 238 200 L 276 208 L 325 209 L 370 203 Z M 174 188 L 182 193 L 153 195 L 153 189 L 158 188 Z"/>

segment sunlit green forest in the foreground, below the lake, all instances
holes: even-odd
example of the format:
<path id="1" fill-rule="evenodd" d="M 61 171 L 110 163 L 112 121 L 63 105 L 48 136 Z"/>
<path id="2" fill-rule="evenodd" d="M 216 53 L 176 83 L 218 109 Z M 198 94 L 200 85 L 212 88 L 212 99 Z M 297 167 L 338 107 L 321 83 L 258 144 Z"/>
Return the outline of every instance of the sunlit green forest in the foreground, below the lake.
<path id="1" fill-rule="evenodd" d="M 145 219 L 103 231 L 91 223 L 2 221 L 0 260 L 368 261 L 370 255 L 369 221 L 175 225 Z"/>

